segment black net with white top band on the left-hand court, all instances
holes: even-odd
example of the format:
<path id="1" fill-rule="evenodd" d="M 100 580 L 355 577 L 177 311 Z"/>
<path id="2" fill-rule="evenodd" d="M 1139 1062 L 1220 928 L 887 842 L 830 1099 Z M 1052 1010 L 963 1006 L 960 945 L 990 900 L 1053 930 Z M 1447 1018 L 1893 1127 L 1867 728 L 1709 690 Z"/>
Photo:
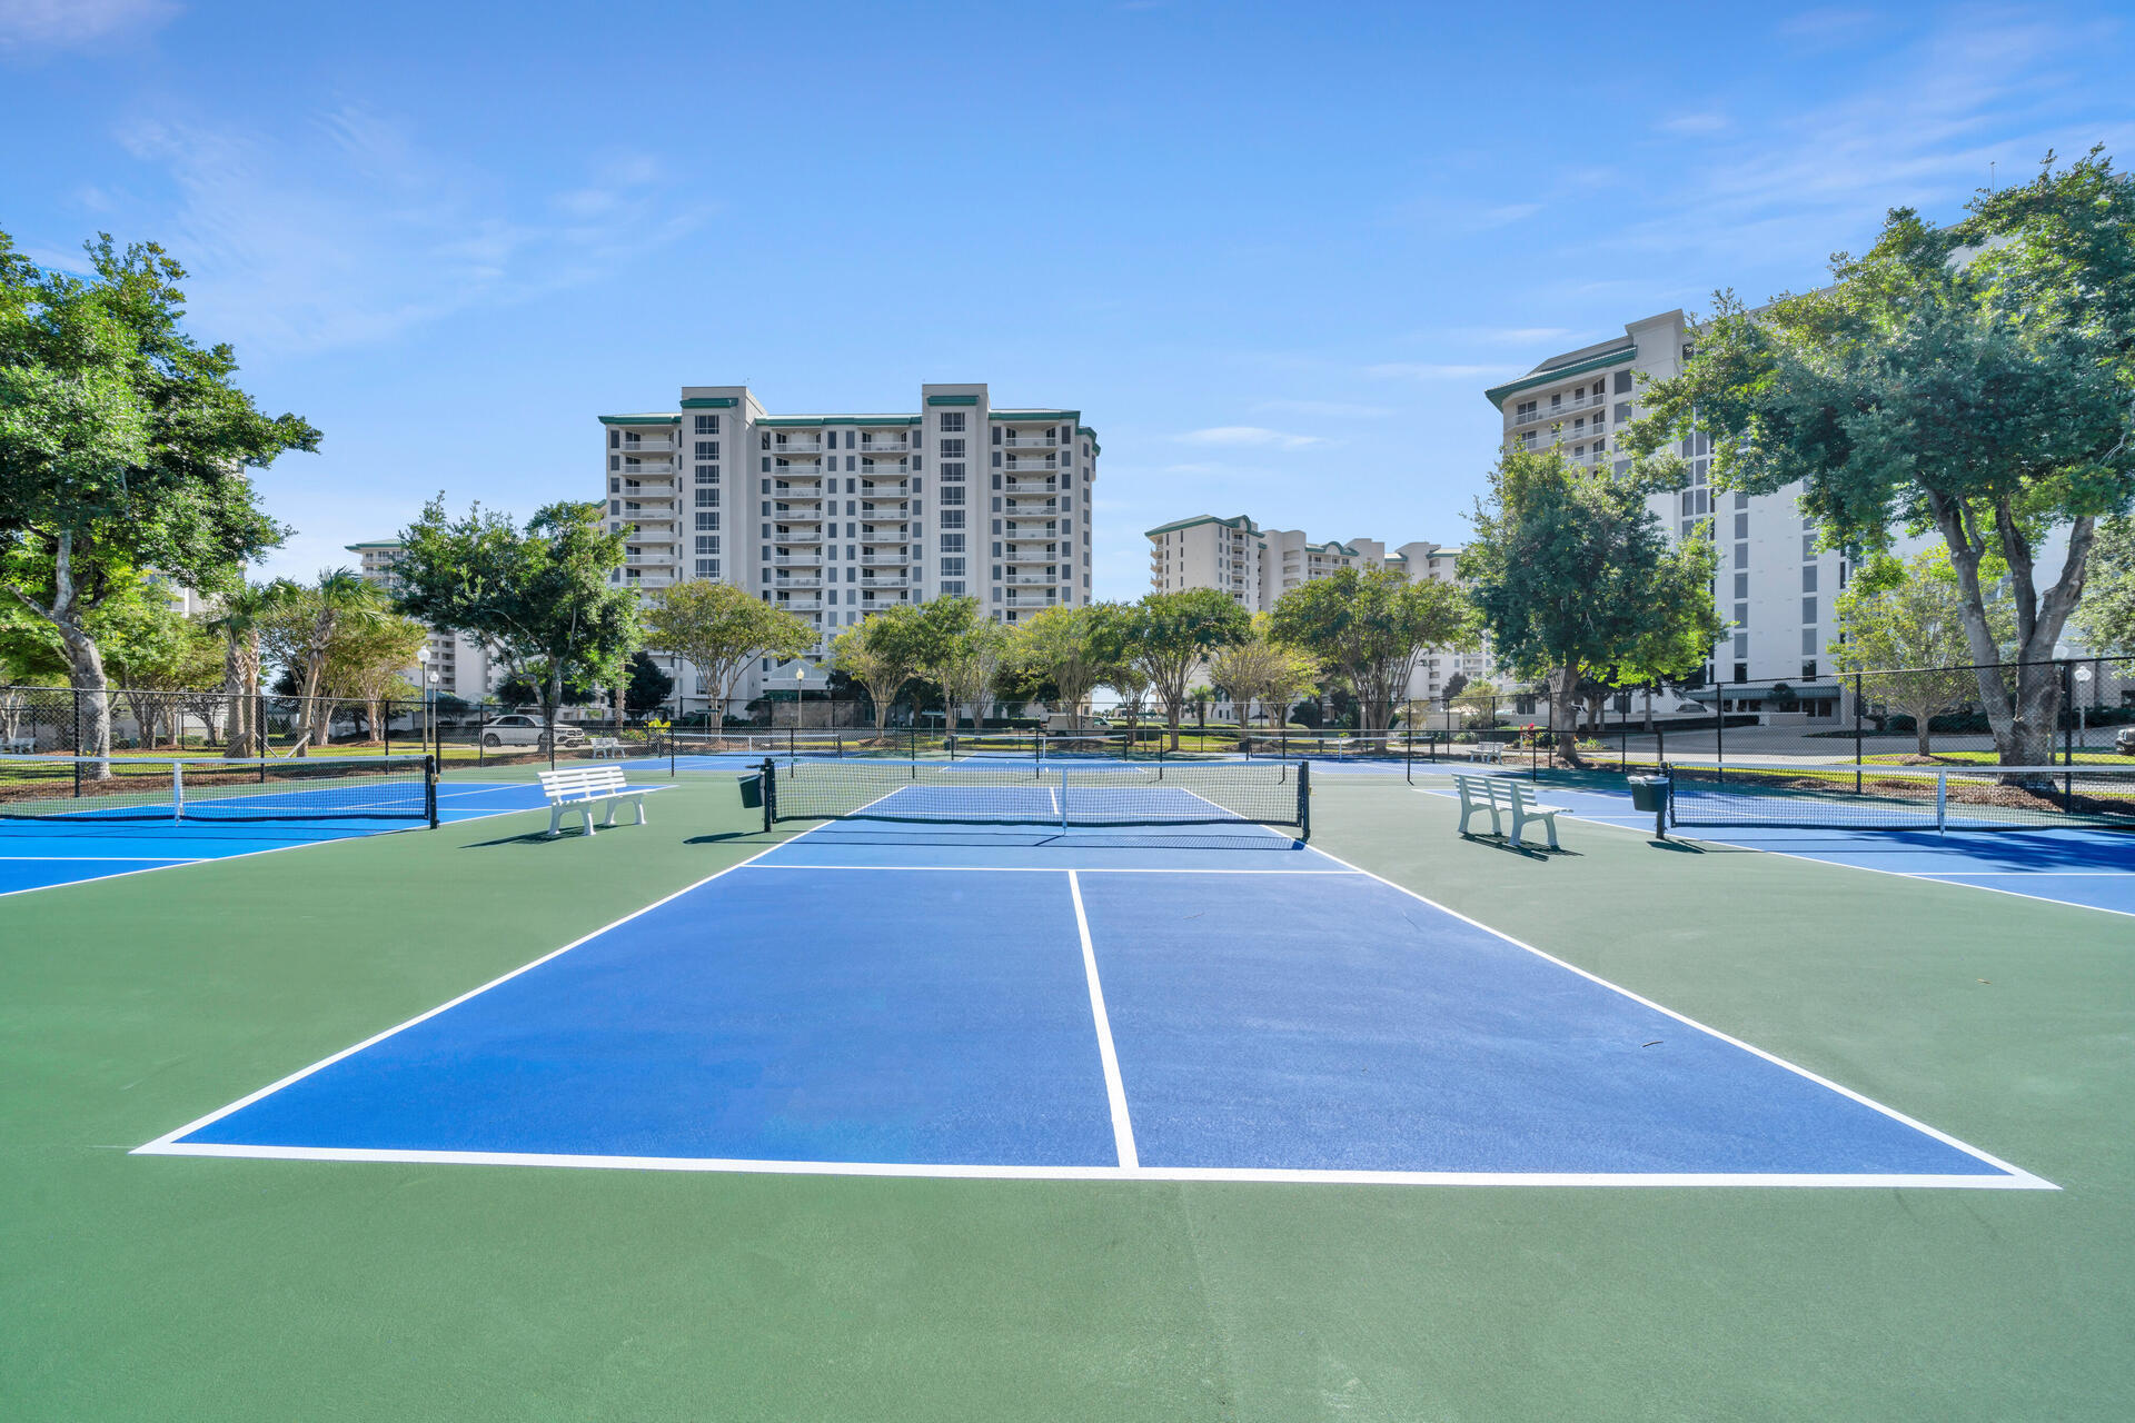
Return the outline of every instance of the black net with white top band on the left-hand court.
<path id="1" fill-rule="evenodd" d="M 0 757 L 0 819 L 408 819 L 436 824 L 423 755 Z"/>

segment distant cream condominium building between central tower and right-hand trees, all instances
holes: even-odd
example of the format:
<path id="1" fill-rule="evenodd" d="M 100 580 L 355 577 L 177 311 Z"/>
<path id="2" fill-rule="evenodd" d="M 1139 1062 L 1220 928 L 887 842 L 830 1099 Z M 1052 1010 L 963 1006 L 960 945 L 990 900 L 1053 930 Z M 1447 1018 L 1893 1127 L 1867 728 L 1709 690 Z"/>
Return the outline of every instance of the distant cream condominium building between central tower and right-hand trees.
<path id="1" fill-rule="evenodd" d="M 1149 529 L 1149 587 L 1157 593 L 1217 589 L 1249 612 L 1268 612 L 1290 589 L 1345 567 L 1394 567 L 1409 578 L 1452 582 L 1458 557 L 1458 548 L 1426 542 L 1401 544 L 1394 553 L 1373 538 L 1313 544 L 1302 529 L 1262 529 L 1245 514 L 1202 514 Z M 1418 663 L 1409 695 L 1439 695 L 1456 672 L 1469 681 L 1488 676 L 1488 649 L 1433 649 Z"/>

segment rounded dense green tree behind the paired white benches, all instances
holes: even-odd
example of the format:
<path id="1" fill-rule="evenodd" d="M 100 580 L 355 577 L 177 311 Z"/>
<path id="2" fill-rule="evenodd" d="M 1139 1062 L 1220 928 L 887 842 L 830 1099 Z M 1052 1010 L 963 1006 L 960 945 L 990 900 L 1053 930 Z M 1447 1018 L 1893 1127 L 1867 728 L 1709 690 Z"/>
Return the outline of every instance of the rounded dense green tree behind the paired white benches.
<path id="1" fill-rule="evenodd" d="M 1499 661 L 1548 683 L 1550 730 L 1578 764 L 1582 683 L 1687 676 L 1719 640 L 1712 544 L 1670 546 L 1640 476 L 1588 474 L 1556 448 L 1505 450 L 1475 501 L 1460 576 Z"/>

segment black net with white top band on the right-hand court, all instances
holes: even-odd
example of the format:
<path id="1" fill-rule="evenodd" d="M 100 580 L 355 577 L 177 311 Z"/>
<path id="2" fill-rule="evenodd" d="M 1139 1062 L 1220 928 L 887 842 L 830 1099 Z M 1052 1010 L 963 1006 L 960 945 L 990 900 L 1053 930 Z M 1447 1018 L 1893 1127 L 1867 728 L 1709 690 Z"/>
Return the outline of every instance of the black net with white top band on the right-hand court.
<path id="1" fill-rule="evenodd" d="M 2131 766 L 1672 762 L 1670 824 L 1806 830 L 2135 830 Z"/>

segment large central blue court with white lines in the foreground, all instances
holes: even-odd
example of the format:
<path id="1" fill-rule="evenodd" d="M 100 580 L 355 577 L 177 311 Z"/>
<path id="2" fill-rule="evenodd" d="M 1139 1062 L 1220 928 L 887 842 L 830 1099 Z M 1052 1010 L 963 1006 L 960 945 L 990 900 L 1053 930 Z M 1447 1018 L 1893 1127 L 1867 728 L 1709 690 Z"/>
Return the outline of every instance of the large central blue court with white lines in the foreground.
<path id="1" fill-rule="evenodd" d="M 1255 826 L 824 824 L 139 1150 L 2047 1186 Z"/>

